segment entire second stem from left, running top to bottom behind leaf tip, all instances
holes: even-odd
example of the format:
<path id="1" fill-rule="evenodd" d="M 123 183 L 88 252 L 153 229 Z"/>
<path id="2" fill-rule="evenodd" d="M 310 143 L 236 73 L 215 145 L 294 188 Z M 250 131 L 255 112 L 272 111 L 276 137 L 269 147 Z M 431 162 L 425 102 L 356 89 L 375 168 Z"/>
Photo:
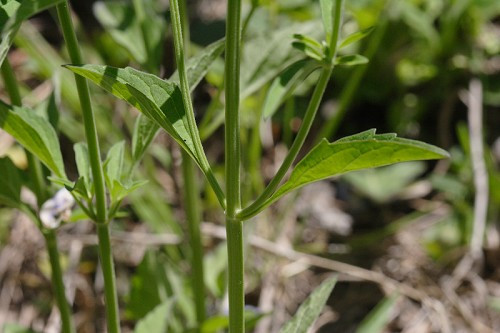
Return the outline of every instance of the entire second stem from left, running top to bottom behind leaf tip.
<path id="1" fill-rule="evenodd" d="M 68 1 L 57 5 L 57 15 L 61 30 L 66 41 L 68 53 L 73 64 L 82 64 L 80 47 L 76 38 Z M 106 202 L 106 188 L 104 183 L 104 173 L 102 169 L 99 140 L 95 123 L 92 105 L 90 103 L 90 92 L 87 81 L 75 75 L 76 87 L 83 113 L 83 122 L 87 146 L 89 150 L 89 160 L 92 169 L 92 179 L 94 182 L 96 197 L 96 225 L 99 245 L 99 255 L 101 267 L 104 275 L 104 293 L 106 296 L 106 317 L 109 333 L 120 332 L 120 319 L 118 311 L 118 296 L 116 293 L 115 271 L 113 257 L 111 255 L 111 245 L 109 238 L 109 221 Z"/>

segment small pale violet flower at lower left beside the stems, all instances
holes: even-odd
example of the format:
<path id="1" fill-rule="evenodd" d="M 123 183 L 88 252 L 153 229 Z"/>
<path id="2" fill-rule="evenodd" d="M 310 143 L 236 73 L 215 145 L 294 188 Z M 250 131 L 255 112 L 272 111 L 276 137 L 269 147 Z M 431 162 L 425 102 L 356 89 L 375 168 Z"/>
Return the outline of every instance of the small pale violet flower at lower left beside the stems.
<path id="1" fill-rule="evenodd" d="M 75 199 L 65 188 L 60 189 L 52 199 L 47 200 L 40 209 L 40 220 L 45 228 L 55 229 L 61 221 L 67 221 L 71 217 L 71 208 Z"/>

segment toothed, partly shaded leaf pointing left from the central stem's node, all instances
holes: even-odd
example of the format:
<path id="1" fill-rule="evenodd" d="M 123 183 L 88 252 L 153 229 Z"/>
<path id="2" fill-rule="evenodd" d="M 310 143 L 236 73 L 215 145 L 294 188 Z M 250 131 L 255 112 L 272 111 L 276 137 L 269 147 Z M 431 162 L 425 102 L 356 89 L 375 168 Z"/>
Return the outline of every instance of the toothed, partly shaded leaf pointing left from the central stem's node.
<path id="1" fill-rule="evenodd" d="M 116 97 L 123 99 L 165 129 L 196 162 L 193 140 L 177 84 L 127 67 L 102 65 L 66 66 Z"/>

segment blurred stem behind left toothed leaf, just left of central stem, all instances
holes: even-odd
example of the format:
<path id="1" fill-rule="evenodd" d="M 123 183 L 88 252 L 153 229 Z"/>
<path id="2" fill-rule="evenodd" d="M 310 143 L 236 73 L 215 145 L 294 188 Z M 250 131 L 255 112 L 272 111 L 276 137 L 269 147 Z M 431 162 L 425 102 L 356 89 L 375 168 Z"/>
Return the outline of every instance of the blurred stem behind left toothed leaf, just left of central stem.
<path id="1" fill-rule="evenodd" d="M 189 232 L 191 247 L 191 270 L 194 303 L 196 307 L 196 321 L 200 327 L 205 321 L 205 279 L 203 272 L 203 247 L 200 232 L 200 200 L 196 186 L 195 165 L 184 150 L 182 151 L 182 176 L 184 179 L 184 210 Z"/>

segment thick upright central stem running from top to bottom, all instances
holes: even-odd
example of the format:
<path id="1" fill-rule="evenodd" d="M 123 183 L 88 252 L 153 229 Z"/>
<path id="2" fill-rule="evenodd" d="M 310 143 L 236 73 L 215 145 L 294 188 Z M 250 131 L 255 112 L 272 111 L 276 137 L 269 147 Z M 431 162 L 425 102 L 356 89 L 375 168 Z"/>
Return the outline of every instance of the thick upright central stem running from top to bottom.
<path id="1" fill-rule="evenodd" d="M 243 333 L 244 263 L 243 223 L 236 218 L 241 208 L 240 189 L 240 50 L 241 0 L 228 0 L 226 20 L 226 233 L 228 251 L 229 332 Z"/>

